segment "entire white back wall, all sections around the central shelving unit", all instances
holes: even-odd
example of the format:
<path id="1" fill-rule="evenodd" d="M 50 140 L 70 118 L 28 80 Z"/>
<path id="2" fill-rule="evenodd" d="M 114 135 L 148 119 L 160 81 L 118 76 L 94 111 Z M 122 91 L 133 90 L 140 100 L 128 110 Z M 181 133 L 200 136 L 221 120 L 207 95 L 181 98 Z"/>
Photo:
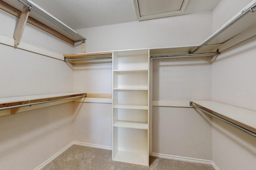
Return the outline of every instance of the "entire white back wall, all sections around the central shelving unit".
<path id="1" fill-rule="evenodd" d="M 211 12 L 202 12 L 77 31 L 87 38 L 86 51 L 97 52 L 195 45 L 210 35 L 211 24 Z M 80 52 L 80 47 L 75 49 Z M 210 99 L 210 64 L 207 58 L 154 60 L 153 99 Z M 111 63 L 74 64 L 74 90 L 111 93 L 111 72 Z M 111 104 L 87 103 L 76 107 L 77 140 L 111 147 Z M 102 110 L 104 113 L 100 113 Z M 211 160 L 209 117 L 192 108 L 154 107 L 153 111 L 153 152 Z M 106 120 L 100 121 L 102 117 Z M 179 133 L 174 135 L 177 128 Z M 102 134 L 104 139 L 98 138 Z"/>

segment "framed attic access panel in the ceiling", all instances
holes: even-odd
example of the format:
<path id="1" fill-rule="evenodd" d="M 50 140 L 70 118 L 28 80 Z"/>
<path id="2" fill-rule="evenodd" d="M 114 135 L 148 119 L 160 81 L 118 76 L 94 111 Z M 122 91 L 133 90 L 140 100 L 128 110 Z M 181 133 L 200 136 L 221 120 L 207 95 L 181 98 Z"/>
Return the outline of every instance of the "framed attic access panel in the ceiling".
<path id="1" fill-rule="evenodd" d="M 138 20 L 150 20 L 180 15 L 188 0 L 133 0 Z"/>

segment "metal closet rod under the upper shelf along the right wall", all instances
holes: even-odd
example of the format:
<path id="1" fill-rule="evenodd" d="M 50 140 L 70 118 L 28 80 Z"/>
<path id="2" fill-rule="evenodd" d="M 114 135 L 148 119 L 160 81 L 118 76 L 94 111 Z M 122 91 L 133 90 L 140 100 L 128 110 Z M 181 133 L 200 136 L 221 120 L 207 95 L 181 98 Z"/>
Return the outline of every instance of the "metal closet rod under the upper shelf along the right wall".
<path id="1" fill-rule="evenodd" d="M 206 39 L 205 41 L 203 41 L 201 43 L 201 45 L 199 45 L 194 51 L 192 51 L 191 53 L 194 53 L 196 51 L 198 51 L 200 48 L 202 48 L 204 45 L 206 45 L 207 43 L 209 43 L 210 41 L 212 41 L 212 39 L 214 39 L 215 37 L 217 37 L 218 35 L 220 35 L 223 31 L 225 31 L 228 27 L 230 27 L 231 25 L 233 25 L 234 23 L 236 23 L 236 21 L 240 20 L 242 17 L 244 17 L 246 14 L 248 14 L 249 12 L 255 12 L 256 5 L 254 4 L 253 7 L 248 8 L 247 10 L 245 10 L 244 12 L 242 12 L 242 14 L 240 14 L 239 16 L 237 16 L 234 20 L 232 20 L 228 25 L 226 25 L 225 27 L 223 27 L 222 29 L 220 29 L 218 32 L 214 33 L 213 35 L 211 35 L 208 39 Z"/>

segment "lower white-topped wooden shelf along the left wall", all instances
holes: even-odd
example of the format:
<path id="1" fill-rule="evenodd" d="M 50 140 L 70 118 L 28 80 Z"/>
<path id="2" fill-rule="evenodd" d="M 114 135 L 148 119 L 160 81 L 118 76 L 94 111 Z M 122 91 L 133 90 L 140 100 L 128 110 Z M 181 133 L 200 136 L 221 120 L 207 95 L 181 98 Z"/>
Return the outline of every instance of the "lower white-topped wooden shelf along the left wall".
<path id="1" fill-rule="evenodd" d="M 9 107 L 9 106 L 18 106 L 22 104 L 33 104 L 37 102 L 46 102 L 51 100 L 72 98 L 76 96 L 84 96 L 84 92 L 66 92 L 66 93 L 55 93 L 55 94 L 40 94 L 32 96 L 15 96 L 15 97 L 6 97 L 0 98 L 0 108 Z M 18 109 L 11 109 L 11 114 L 17 113 Z M 6 108 L 8 109 L 8 108 Z"/>

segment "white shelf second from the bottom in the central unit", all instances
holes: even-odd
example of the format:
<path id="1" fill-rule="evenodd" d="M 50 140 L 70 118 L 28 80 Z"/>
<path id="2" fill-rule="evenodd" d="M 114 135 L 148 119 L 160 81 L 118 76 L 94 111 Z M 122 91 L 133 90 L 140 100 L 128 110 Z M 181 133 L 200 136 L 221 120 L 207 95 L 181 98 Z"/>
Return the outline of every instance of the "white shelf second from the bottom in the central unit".
<path id="1" fill-rule="evenodd" d="M 134 129 L 148 129 L 147 122 L 137 122 L 137 121 L 116 121 L 116 123 L 114 123 L 113 126 L 134 128 Z"/>

